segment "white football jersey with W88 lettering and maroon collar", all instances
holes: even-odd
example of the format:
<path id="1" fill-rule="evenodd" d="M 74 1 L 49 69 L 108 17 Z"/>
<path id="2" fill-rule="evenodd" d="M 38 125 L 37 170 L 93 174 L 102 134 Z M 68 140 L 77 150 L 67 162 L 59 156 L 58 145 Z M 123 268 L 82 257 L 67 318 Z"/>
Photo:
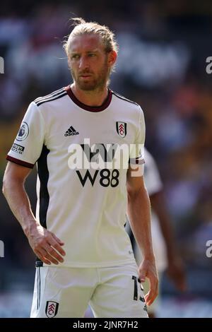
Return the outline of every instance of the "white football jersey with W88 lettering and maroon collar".
<path id="1" fill-rule="evenodd" d="M 127 169 L 107 167 L 114 157 L 107 145 L 143 147 L 144 139 L 141 107 L 112 90 L 100 107 L 82 104 L 70 86 L 28 107 L 7 159 L 31 168 L 37 163 L 36 218 L 64 242 L 66 256 L 60 266 L 134 261 L 124 230 Z M 76 162 L 76 151 L 86 155 L 86 166 Z M 102 160 L 105 166 L 89 168 Z M 142 148 L 136 155 L 129 150 L 128 161 L 143 163 Z M 37 266 L 42 265 L 37 259 Z"/>

